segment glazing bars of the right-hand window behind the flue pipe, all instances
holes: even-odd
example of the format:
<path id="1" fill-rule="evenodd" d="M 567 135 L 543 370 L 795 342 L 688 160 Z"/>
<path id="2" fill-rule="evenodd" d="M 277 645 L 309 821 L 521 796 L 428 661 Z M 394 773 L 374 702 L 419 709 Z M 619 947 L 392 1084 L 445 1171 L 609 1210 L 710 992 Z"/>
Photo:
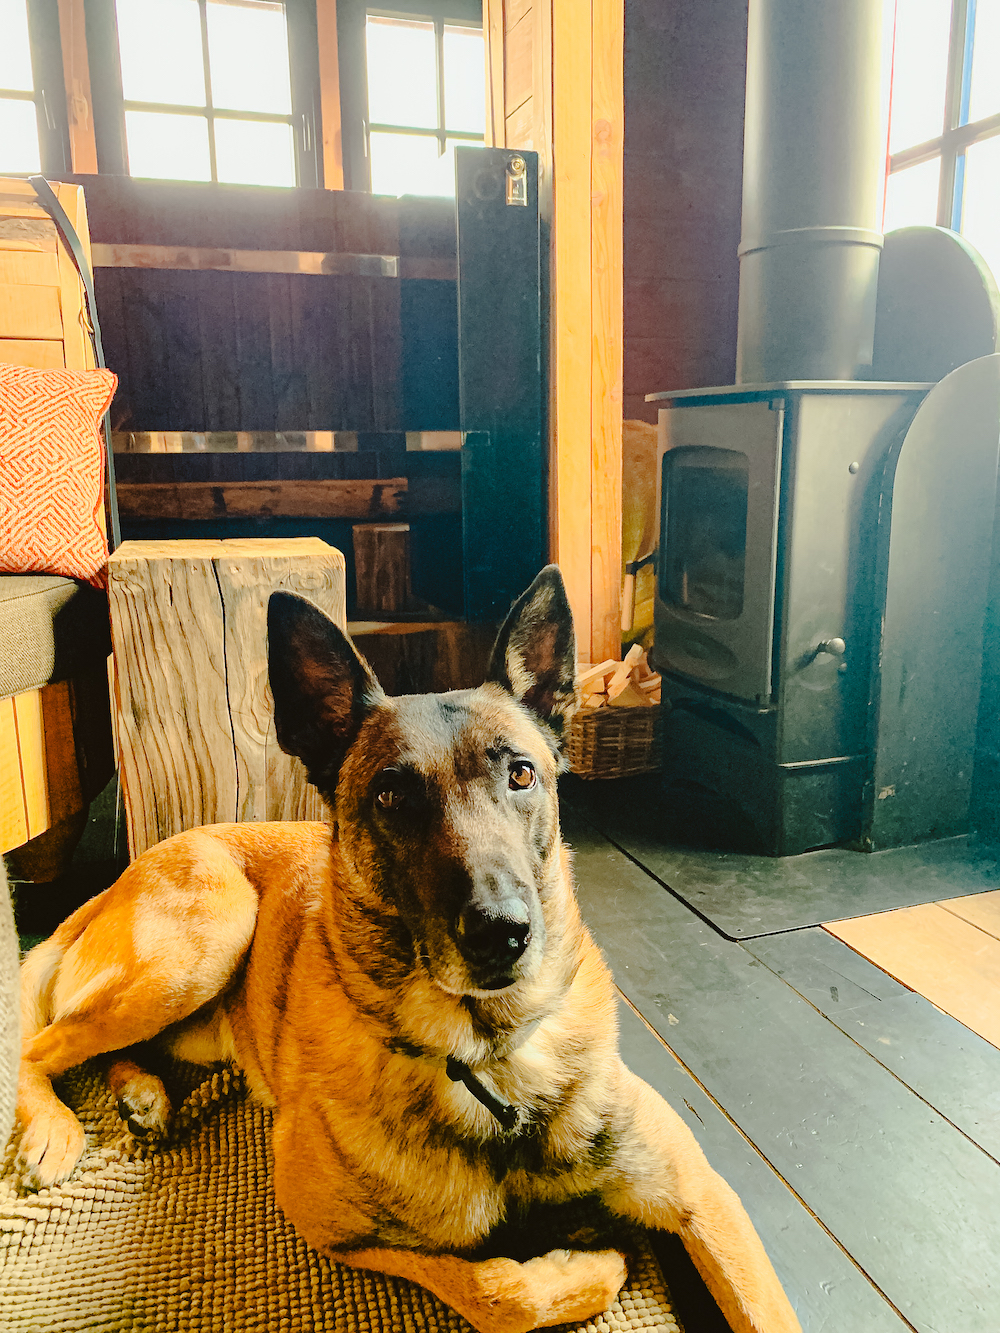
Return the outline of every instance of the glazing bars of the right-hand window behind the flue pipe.
<path id="1" fill-rule="evenodd" d="M 952 0 L 948 33 L 948 76 L 944 92 L 944 129 L 921 144 L 892 153 L 888 176 L 940 159 L 937 180 L 937 227 L 961 232 L 965 188 L 965 149 L 1000 135 L 1000 112 L 980 120 L 968 120 L 972 89 L 972 52 L 975 45 L 976 0 Z M 969 21 L 971 20 L 971 21 Z"/>

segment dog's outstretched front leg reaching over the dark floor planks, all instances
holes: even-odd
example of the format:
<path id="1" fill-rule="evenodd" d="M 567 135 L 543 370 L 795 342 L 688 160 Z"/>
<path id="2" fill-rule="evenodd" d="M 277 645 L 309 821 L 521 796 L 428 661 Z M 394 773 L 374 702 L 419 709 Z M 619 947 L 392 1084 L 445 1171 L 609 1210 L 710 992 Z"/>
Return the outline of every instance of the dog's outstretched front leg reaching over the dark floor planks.
<path id="1" fill-rule="evenodd" d="M 612 1212 L 675 1232 L 733 1333 L 801 1333 L 740 1200 L 659 1093 L 621 1066 Z"/>

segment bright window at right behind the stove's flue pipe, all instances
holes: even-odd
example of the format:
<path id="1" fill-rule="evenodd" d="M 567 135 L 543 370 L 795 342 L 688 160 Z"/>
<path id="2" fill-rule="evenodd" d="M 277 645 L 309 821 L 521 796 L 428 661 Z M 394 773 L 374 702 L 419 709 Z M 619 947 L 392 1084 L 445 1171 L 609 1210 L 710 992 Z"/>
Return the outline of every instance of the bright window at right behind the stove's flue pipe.
<path id="1" fill-rule="evenodd" d="M 896 0 L 885 231 L 961 232 L 1000 275 L 1000 0 Z"/>

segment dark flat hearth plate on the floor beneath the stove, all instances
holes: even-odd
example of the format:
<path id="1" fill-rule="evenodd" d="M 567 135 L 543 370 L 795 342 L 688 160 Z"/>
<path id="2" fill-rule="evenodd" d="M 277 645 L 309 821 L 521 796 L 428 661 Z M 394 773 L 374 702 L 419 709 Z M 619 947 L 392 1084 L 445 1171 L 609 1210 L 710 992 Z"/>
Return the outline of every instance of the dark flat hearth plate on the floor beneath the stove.
<path id="1" fill-rule="evenodd" d="M 659 805 L 651 782 L 564 778 L 563 806 L 731 940 L 1000 888 L 997 849 L 965 837 L 875 853 L 825 848 L 783 857 L 696 845 L 697 825 Z"/>

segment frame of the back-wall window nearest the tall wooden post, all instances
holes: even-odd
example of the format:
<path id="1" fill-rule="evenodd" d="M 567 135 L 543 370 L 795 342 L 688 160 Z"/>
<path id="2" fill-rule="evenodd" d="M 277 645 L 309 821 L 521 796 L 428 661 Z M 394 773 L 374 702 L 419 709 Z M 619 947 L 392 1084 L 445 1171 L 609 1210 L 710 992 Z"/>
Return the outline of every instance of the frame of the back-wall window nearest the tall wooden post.
<path id="1" fill-rule="evenodd" d="M 368 49 L 365 24 L 368 15 L 387 19 L 423 19 L 433 23 L 437 47 L 437 127 L 388 125 L 368 120 Z M 376 133 L 436 137 L 441 152 L 447 139 L 463 143 L 485 143 L 484 135 L 471 131 L 448 131 L 443 124 L 443 41 L 445 25 L 483 29 L 481 0 L 337 0 L 337 49 L 340 65 L 340 117 L 344 152 L 344 187 L 371 193 L 372 173 L 368 136 Z"/>

